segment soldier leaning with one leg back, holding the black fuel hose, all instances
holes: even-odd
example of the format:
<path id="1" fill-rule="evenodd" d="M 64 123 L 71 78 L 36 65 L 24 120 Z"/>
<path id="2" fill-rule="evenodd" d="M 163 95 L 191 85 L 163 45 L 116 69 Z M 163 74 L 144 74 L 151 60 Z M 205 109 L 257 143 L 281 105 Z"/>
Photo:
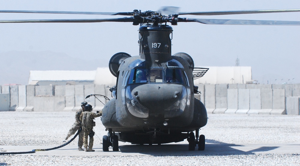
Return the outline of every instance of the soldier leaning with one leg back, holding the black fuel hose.
<path id="1" fill-rule="evenodd" d="M 78 131 L 80 128 L 82 128 L 81 126 L 81 120 L 80 120 L 80 115 L 81 113 L 84 111 L 84 106 L 88 104 L 86 101 L 83 101 L 81 103 L 81 108 L 76 110 L 75 113 L 75 122 L 72 125 L 72 128 L 69 130 L 67 137 L 65 138 L 65 140 L 67 140 L 71 135 L 75 134 L 76 131 Z M 82 149 L 82 145 L 83 145 L 83 132 L 82 130 L 79 132 L 78 134 L 78 150 L 79 151 L 83 151 Z"/>

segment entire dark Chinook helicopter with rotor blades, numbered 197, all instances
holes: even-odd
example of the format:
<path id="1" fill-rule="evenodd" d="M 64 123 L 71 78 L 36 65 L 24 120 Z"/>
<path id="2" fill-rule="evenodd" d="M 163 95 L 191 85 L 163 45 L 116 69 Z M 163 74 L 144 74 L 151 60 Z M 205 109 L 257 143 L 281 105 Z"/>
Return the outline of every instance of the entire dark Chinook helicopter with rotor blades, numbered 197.
<path id="1" fill-rule="evenodd" d="M 165 7 L 168 12 L 174 7 Z M 176 8 L 175 8 L 176 9 Z M 253 10 L 215 12 L 71 12 L 71 11 L 0 11 L 0 13 L 98 14 L 131 17 L 78 20 L 1 20 L 0 23 L 92 23 L 131 22 L 140 25 L 140 55 L 116 53 L 110 59 L 110 72 L 117 77 L 111 88 L 113 99 L 105 104 L 102 123 L 108 134 L 103 136 L 103 150 L 119 151 L 118 141 L 133 144 L 162 144 L 187 139 L 188 150 L 205 149 L 205 136 L 199 129 L 207 123 L 204 104 L 194 97 L 198 87 L 193 80 L 208 68 L 196 68 L 186 53 L 171 54 L 172 26 L 180 22 L 221 25 L 296 25 L 298 21 L 223 20 L 181 18 L 179 15 L 229 15 L 299 12 L 292 10 Z M 89 95 L 91 96 L 91 95 Z M 87 96 L 87 97 L 89 97 Z M 196 133 L 196 136 L 194 132 Z"/>

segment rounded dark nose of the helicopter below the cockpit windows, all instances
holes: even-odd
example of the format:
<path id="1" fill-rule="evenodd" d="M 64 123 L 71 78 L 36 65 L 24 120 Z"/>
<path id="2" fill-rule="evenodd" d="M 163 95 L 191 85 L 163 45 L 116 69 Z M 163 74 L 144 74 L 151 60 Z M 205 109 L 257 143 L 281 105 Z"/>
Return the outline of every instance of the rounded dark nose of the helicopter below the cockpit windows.
<path id="1" fill-rule="evenodd" d="M 184 86 L 177 84 L 145 84 L 134 87 L 131 91 L 127 89 L 126 103 L 134 116 L 170 118 L 184 111 L 186 92 Z"/>

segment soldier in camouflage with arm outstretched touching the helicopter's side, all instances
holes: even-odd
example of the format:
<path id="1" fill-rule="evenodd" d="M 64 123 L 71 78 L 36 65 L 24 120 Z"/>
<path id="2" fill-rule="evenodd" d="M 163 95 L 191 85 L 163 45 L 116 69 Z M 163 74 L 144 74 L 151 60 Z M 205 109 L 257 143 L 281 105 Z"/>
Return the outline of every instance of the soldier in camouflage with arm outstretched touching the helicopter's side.
<path id="1" fill-rule="evenodd" d="M 86 104 L 84 108 L 85 111 L 82 112 L 82 114 L 80 115 L 83 131 L 83 146 L 85 147 L 85 152 L 95 152 L 95 150 L 92 149 L 94 145 L 95 135 L 95 132 L 93 131 L 93 126 L 96 125 L 93 119 L 95 119 L 95 117 L 102 116 L 102 111 L 97 111 L 97 113 L 91 112 L 93 108 L 90 104 Z M 89 143 L 88 136 L 90 137 Z"/>

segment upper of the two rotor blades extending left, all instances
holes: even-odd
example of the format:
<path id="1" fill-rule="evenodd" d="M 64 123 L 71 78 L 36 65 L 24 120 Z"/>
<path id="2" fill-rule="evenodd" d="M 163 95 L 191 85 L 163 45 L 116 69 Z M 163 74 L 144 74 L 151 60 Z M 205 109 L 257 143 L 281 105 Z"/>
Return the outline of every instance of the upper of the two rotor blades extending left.
<path id="1" fill-rule="evenodd" d="M 123 15 L 132 16 L 134 12 L 83 12 L 83 11 L 12 11 L 0 10 L 0 13 L 49 13 L 49 14 L 90 14 L 90 15 Z"/>

